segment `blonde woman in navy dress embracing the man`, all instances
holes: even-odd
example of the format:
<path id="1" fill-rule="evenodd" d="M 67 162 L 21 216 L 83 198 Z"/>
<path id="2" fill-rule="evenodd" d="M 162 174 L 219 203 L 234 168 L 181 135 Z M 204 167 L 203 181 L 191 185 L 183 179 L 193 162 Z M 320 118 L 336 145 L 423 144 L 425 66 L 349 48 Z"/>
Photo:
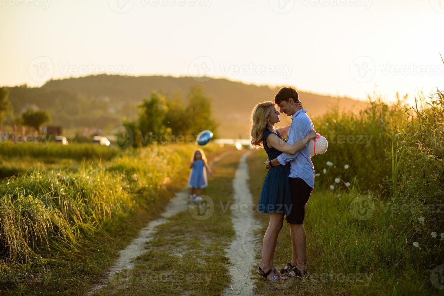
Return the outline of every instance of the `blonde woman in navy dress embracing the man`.
<path id="1" fill-rule="evenodd" d="M 298 102 L 298 107 L 302 104 Z M 280 122 L 276 104 L 266 101 L 256 105 L 251 115 L 251 144 L 255 148 L 264 148 L 268 158 L 273 160 L 282 152 L 295 154 L 316 137 L 316 132 L 311 130 L 307 136 L 290 145 L 282 140 L 280 131 L 285 135 L 289 126 L 282 129 L 274 129 L 274 124 Z M 301 108 L 302 109 L 302 108 Z M 291 214 L 292 199 L 288 180 L 289 164 L 270 168 L 264 183 L 262 184 L 261 197 L 258 210 L 270 214 L 270 223 L 264 235 L 262 247 L 262 259 L 258 267 L 258 274 L 269 280 L 276 280 L 281 274 L 274 268 L 274 250 L 276 248 L 277 235 L 282 228 L 284 214 Z"/>

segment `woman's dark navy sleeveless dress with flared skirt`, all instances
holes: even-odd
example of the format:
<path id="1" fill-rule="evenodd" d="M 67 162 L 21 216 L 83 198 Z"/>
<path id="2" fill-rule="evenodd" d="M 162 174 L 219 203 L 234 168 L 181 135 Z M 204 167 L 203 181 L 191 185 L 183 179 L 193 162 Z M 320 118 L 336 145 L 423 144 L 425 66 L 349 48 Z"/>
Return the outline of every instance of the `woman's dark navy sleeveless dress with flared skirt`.
<path id="1" fill-rule="evenodd" d="M 268 158 L 274 160 L 282 152 L 275 148 L 267 146 L 266 138 L 271 133 L 276 134 L 282 139 L 278 131 L 272 132 L 270 129 L 265 128 L 264 135 L 262 136 L 263 146 L 267 152 Z M 285 166 L 277 165 L 268 170 L 265 176 L 264 183 L 262 184 L 261 197 L 257 209 L 262 213 L 277 213 L 289 215 L 292 213 L 292 199 L 290 191 L 290 183 L 288 175 L 290 172 L 290 164 Z"/>

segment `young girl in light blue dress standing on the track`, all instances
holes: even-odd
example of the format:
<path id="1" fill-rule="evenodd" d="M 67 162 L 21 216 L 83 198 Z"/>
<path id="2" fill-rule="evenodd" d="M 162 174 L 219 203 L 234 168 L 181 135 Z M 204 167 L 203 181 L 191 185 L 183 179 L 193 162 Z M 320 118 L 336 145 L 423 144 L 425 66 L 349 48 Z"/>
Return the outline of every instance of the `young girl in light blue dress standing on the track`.
<path id="1" fill-rule="evenodd" d="M 190 201 L 199 201 L 202 200 L 202 198 L 200 197 L 202 193 L 202 188 L 208 186 L 208 182 L 206 180 L 206 171 L 208 171 L 210 176 L 213 175 L 210 167 L 208 166 L 208 163 L 206 162 L 206 157 L 202 149 L 196 149 L 196 151 L 194 151 L 190 168 L 190 178 L 188 179 L 188 186 L 191 187 Z M 194 194 L 196 188 L 198 192 L 197 197 Z"/>

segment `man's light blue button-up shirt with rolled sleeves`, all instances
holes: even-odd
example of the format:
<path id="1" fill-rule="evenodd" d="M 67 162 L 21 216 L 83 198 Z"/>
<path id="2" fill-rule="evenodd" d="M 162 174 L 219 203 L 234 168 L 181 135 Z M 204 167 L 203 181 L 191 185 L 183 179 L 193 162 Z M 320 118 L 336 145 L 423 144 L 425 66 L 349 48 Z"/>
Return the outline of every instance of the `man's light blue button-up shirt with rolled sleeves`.
<path id="1" fill-rule="evenodd" d="M 314 129 L 313 122 L 308 117 L 307 110 L 305 109 L 297 110 L 291 119 L 290 130 L 287 134 L 287 143 L 290 145 L 301 140 L 308 135 L 310 130 Z M 308 151 L 308 143 L 293 155 L 282 153 L 280 156 L 277 156 L 277 160 L 282 165 L 290 163 L 289 178 L 301 178 L 307 185 L 314 188 L 315 172 Z"/>

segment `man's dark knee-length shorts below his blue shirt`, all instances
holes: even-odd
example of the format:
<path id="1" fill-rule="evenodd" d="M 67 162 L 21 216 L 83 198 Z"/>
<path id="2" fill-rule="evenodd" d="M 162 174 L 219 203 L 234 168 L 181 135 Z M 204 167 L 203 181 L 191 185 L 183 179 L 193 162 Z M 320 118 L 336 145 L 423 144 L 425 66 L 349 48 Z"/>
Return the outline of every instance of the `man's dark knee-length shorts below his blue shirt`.
<path id="1" fill-rule="evenodd" d="M 285 217 L 289 224 L 303 224 L 305 218 L 305 205 L 313 190 L 301 178 L 288 178 L 290 181 L 291 199 L 293 203 L 292 214 Z"/>

